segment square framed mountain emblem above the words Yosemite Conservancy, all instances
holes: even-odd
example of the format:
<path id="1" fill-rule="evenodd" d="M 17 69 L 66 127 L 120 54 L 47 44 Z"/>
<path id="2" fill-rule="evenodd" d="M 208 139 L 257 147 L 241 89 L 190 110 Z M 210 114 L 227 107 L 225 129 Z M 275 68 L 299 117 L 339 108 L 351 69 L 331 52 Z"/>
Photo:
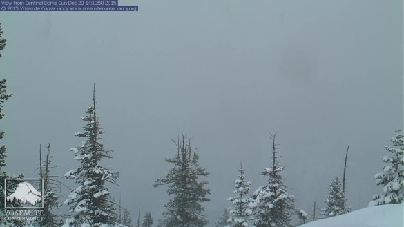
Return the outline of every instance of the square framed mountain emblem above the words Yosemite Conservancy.
<path id="1" fill-rule="evenodd" d="M 4 179 L 6 209 L 43 209 L 44 179 Z"/>

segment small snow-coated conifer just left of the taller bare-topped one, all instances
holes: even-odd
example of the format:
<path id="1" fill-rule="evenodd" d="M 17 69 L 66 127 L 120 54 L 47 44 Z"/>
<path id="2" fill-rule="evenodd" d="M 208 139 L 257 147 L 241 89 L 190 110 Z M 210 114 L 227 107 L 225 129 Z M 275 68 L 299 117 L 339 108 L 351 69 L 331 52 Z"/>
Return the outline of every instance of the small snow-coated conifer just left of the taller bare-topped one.
<path id="1" fill-rule="evenodd" d="M 238 179 L 234 181 L 235 190 L 233 193 L 237 196 L 227 199 L 227 201 L 232 201 L 233 205 L 228 208 L 230 216 L 227 221 L 228 227 L 247 227 L 249 226 L 249 221 L 254 219 L 251 208 L 254 199 L 249 197 L 251 182 L 245 179 L 244 172 L 245 170 L 240 166 Z"/>

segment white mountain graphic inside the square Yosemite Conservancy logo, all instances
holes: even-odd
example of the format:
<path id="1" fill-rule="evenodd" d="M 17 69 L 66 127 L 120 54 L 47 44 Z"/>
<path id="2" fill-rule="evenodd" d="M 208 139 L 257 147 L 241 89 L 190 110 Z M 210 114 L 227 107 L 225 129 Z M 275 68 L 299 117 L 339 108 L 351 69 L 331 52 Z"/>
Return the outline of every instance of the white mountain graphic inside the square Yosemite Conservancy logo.
<path id="1" fill-rule="evenodd" d="M 18 184 L 15 192 L 7 197 L 7 201 L 21 201 L 23 204 L 35 205 L 42 201 L 42 193 L 37 191 L 34 186 L 28 182 Z"/>

